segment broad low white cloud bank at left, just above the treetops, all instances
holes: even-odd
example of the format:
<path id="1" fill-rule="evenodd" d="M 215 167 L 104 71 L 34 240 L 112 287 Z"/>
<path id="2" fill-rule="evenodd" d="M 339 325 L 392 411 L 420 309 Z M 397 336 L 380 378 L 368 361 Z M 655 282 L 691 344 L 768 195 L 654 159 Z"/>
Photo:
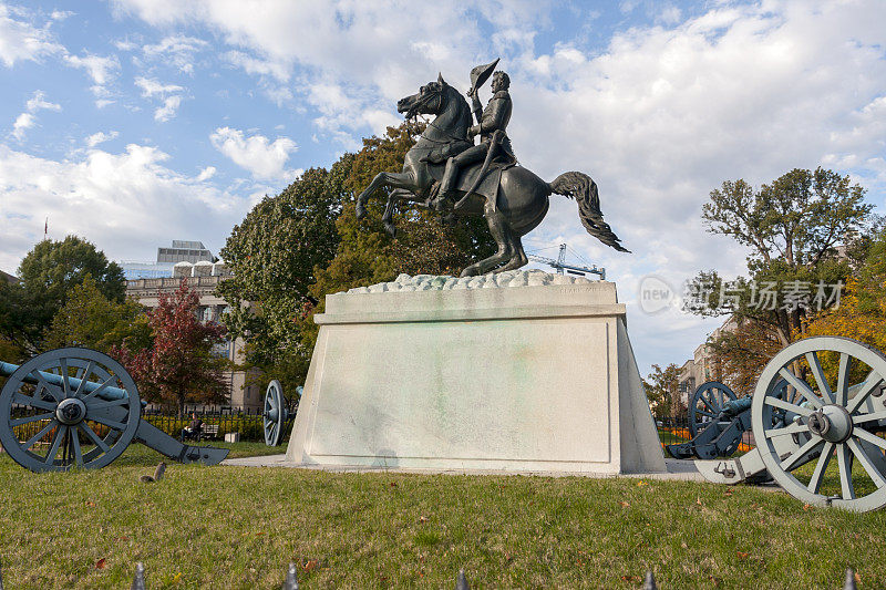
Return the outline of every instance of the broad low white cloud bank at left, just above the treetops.
<path id="1" fill-rule="evenodd" d="M 121 153 L 92 149 L 55 162 L 0 144 L 0 268 L 18 267 L 42 238 L 45 217 L 51 238 L 75 234 L 115 260 L 144 259 L 178 236 L 217 250 L 248 199 L 172 170 L 168 158 L 131 144 Z"/>

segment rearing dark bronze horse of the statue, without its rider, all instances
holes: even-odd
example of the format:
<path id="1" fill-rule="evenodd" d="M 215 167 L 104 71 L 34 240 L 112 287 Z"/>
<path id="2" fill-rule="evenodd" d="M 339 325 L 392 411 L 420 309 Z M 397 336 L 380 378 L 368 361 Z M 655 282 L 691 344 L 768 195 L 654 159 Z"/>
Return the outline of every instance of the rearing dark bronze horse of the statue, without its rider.
<path id="1" fill-rule="evenodd" d="M 401 99 L 396 110 L 406 118 L 419 114 L 435 115 L 415 145 L 406 153 L 402 173 L 383 172 L 377 175 L 357 198 L 357 217 L 365 216 L 365 203 L 381 187 L 393 188 L 382 220 L 393 235 L 392 216 L 399 201 L 416 203 L 421 207 L 434 208 L 434 192 L 443 175 L 445 159 L 471 147 L 467 130 L 471 126 L 471 108 L 467 101 L 440 75 L 435 82 L 421 86 L 418 94 Z M 486 258 L 462 271 L 462 277 L 502 272 L 523 267 L 528 262 L 521 238 L 542 222 L 548 210 L 552 193 L 575 198 L 578 216 L 588 234 L 618 251 L 627 252 L 618 237 L 602 219 L 600 198 L 596 183 L 580 172 L 563 173 L 552 183 L 546 183 L 533 172 L 519 166 L 498 167 L 492 180 L 484 182 L 484 189 L 471 190 L 478 184 L 478 166 L 466 169 L 456 194 L 460 198 L 470 193 L 462 207 L 449 211 L 450 216 L 482 215 L 486 218 L 498 249 Z M 496 178 L 497 177 L 497 178 Z M 490 180 L 490 178 L 485 178 Z M 471 186 L 468 186 L 471 185 Z"/>

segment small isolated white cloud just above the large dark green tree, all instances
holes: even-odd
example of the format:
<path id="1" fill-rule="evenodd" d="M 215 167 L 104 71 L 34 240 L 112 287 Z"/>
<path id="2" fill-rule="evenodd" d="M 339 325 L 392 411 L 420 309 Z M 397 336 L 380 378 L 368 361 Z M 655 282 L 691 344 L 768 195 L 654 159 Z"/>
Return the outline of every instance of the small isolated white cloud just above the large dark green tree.
<path id="1" fill-rule="evenodd" d="M 218 127 L 209 139 L 216 149 L 249 170 L 255 178 L 281 179 L 293 176 L 292 170 L 284 168 L 289 155 L 298 149 L 289 137 L 278 137 L 271 142 L 264 135 L 246 137 L 239 130 Z"/>

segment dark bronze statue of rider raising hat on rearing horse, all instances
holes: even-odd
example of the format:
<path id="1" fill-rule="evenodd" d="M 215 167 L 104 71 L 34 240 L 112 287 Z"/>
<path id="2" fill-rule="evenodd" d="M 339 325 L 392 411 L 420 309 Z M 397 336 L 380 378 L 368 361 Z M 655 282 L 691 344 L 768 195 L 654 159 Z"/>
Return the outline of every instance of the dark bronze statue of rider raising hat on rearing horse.
<path id="1" fill-rule="evenodd" d="M 418 94 L 401 99 L 396 111 L 413 118 L 432 115 L 415 145 L 406 153 L 402 173 L 383 172 L 357 197 L 357 217 L 367 214 L 365 204 L 379 188 L 393 190 L 382 220 L 393 236 L 393 213 L 398 203 L 413 203 L 454 219 L 483 216 L 498 248 L 496 252 L 462 271 L 462 277 L 515 270 L 528 262 L 521 238 L 535 229 L 547 214 L 548 196 L 554 193 L 574 198 L 578 216 L 588 234 L 620 252 L 628 252 L 602 219 L 596 183 L 580 172 L 566 172 L 546 183 L 517 164 L 507 137 L 512 101 L 511 80 L 504 72 L 492 75 L 493 95 L 483 108 L 478 90 L 495 70 L 498 60 L 471 71 L 472 100 L 468 107 L 462 94 L 440 74 Z M 473 115 L 473 118 L 472 118 Z M 472 122 L 476 120 L 476 124 Z M 480 143 L 474 145 L 474 138 Z"/>

